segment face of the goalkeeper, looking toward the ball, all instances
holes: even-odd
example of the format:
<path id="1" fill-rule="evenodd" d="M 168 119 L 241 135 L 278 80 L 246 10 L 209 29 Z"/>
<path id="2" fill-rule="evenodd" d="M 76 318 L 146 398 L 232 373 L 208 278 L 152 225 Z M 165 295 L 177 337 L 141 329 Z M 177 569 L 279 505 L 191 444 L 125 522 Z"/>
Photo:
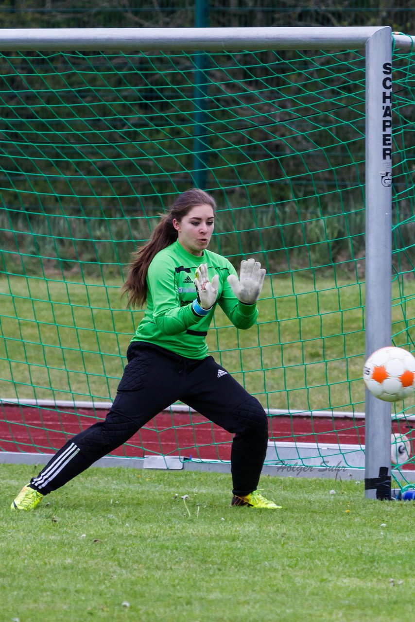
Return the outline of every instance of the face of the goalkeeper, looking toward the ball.
<path id="1" fill-rule="evenodd" d="M 180 222 L 173 219 L 173 226 L 178 233 L 179 244 L 192 255 L 202 256 L 212 238 L 215 215 L 210 205 L 196 205 Z"/>

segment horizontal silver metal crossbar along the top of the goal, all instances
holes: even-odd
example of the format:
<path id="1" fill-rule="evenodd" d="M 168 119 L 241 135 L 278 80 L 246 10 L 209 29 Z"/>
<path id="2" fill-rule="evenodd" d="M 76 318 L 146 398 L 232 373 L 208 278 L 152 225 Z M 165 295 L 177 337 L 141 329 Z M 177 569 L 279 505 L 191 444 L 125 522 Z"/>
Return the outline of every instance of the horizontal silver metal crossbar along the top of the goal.
<path id="1" fill-rule="evenodd" d="M 383 26 L 298 28 L 5 28 L 0 51 L 364 49 Z M 395 47 L 413 38 L 394 35 Z"/>

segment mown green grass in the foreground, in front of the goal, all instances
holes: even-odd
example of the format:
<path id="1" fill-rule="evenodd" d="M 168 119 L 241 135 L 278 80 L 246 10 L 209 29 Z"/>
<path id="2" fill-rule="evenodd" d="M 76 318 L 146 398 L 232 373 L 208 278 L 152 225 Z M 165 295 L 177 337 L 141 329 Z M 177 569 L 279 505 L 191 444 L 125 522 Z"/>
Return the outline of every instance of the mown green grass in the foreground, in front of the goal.
<path id="1" fill-rule="evenodd" d="M 255 511 L 228 475 L 91 468 L 12 513 L 39 469 L 1 469 L 1 622 L 413 620 L 413 504 L 363 483 L 266 476 Z"/>

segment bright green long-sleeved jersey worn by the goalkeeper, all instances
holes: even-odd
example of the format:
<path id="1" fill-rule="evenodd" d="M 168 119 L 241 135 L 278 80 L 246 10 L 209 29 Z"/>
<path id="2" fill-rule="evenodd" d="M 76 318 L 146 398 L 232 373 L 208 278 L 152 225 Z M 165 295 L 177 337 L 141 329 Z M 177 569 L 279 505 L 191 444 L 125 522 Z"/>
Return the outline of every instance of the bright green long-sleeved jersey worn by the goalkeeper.
<path id="1" fill-rule="evenodd" d="M 192 308 L 200 264 L 207 264 L 210 281 L 219 276 L 217 301 L 205 316 Z M 211 251 L 195 256 L 179 241 L 159 251 L 147 272 L 147 309 L 132 341 L 148 341 L 188 358 L 205 358 L 205 338 L 217 304 L 236 328 L 251 327 L 258 317 L 256 304 L 245 305 L 236 298 L 226 280 L 230 274 L 236 274 L 230 261 Z"/>

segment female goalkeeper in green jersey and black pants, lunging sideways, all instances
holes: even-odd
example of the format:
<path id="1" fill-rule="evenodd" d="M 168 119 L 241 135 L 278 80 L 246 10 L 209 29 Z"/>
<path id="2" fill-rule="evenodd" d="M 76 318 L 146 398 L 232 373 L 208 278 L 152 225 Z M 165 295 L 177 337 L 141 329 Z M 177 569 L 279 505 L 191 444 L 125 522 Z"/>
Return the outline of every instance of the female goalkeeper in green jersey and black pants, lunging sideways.
<path id="1" fill-rule="evenodd" d="M 176 400 L 234 435 L 232 505 L 279 508 L 256 490 L 268 442 L 264 409 L 207 355 L 205 337 L 216 305 L 235 327 L 251 327 L 265 276 L 261 264 L 248 259 L 238 279 L 227 259 L 207 250 L 215 207 L 207 193 L 187 190 L 134 253 L 123 290 L 130 305 L 147 302 L 147 309 L 111 410 L 69 440 L 22 488 L 12 509 L 35 508 L 45 494 L 128 441 Z"/>

